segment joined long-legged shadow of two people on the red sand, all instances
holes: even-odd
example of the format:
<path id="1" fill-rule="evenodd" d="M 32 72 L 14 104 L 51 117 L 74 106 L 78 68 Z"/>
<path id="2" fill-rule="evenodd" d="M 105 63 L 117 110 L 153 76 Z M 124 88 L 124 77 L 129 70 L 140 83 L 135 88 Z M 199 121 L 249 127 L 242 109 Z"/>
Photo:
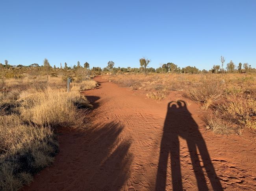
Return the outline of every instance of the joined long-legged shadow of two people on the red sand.
<path id="1" fill-rule="evenodd" d="M 168 109 L 163 127 L 160 158 L 156 178 L 156 191 L 165 191 L 169 154 L 171 155 L 173 190 L 183 190 L 180 166 L 179 136 L 187 141 L 193 170 L 197 180 L 198 190 L 209 190 L 202 166 L 200 166 L 200 160 L 198 158 L 199 153 L 204 164 L 203 167 L 206 170 L 213 190 L 223 190 L 215 173 L 213 164 L 211 163 L 211 158 L 204 139 L 198 129 L 197 123 L 195 120 L 193 120 L 191 113 L 189 113 L 187 110 L 186 103 L 184 101 L 169 102 L 167 107 Z M 197 153 L 197 148 L 199 153 Z"/>

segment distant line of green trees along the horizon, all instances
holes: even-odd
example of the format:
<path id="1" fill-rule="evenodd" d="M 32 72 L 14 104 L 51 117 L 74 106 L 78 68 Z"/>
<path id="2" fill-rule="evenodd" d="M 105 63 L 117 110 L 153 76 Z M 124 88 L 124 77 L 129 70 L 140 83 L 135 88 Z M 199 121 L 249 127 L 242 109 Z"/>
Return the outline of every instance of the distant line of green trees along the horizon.
<path id="1" fill-rule="evenodd" d="M 45 58 L 46 59 L 46 58 Z M 92 67 L 91 71 L 95 71 L 95 72 L 111 72 L 111 73 L 145 73 L 145 75 L 147 75 L 147 73 L 190 73 L 190 74 L 198 74 L 198 73 L 243 73 L 243 72 L 252 72 L 252 67 L 250 64 L 248 63 L 244 63 L 242 64 L 241 62 L 239 64 L 234 64 L 234 62 L 232 60 L 230 60 L 230 62 L 228 62 L 226 64 L 226 69 L 224 69 L 224 62 L 226 61 L 226 59 L 224 58 L 224 56 L 221 56 L 220 58 L 220 62 L 221 65 L 213 65 L 213 67 L 207 71 L 205 69 L 203 70 L 199 70 L 197 67 L 195 66 L 186 66 L 186 67 L 179 67 L 178 65 L 174 64 L 173 62 L 168 62 L 166 64 L 161 64 L 159 68 L 154 69 L 153 67 L 148 67 L 149 63 L 150 63 L 150 59 L 143 57 L 139 59 L 139 64 L 140 67 L 114 67 L 115 62 L 113 61 L 109 61 L 107 66 L 104 67 L 103 69 L 101 67 Z M 44 60 L 43 65 L 39 65 L 37 63 L 34 64 L 30 64 L 28 66 L 19 64 L 17 66 L 12 66 L 8 64 L 8 60 L 5 60 L 5 64 L 1 64 L 0 63 L 0 69 L 8 69 L 8 68 L 12 68 L 12 67 L 40 67 L 42 69 L 46 70 L 46 73 L 50 70 L 50 69 L 78 69 L 78 68 L 84 68 L 84 69 L 90 69 L 90 64 L 88 62 L 85 62 L 82 65 L 80 64 L 80 62 L 77 62 L 77 65 L 74 64 L 73 67 L 69 67 L 67 66 L 67 62 L 64 63 L 64 67 L 62 67 L 62 64 L 60 63 L 60 67 L 56 67 L 56 65 L 54 65 L 54 67 L 50 66 L 48 60 Z"/>

